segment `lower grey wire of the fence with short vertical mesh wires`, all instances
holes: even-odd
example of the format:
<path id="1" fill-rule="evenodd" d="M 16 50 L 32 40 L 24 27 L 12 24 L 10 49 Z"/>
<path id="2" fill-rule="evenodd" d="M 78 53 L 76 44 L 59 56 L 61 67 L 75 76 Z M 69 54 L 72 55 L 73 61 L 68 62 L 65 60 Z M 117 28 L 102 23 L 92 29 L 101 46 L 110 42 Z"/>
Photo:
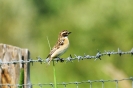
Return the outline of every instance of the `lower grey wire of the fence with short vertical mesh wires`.
<path id="1" fill-rule="evenodd" d="M 57 85 L 62 85 L 62 86 L 64 86 L 64 88 L 66 88 L 68 85 L 73 84 L 73 85 L 76 86 L 76 88 L 79 88 L 80 84 L 87 83 L 87 84 L 89 84 L 90 88 L 92 88 L 92 84 L 98 82 L 98 83 L 101 83 L 101 88 L 104 88 L 104 86 L 105 86 L 104 84 L 106 82 L 115 82 L 116 83 L 115 86 L 116 86 L 116 88 L 118 88 L 118 83 L 120 81 L 127 81 L 127 80 L 131 81 L 131 88 L 133 88 L 133 77 L 124 78 L 124 79 L 114 79 L 114 80 L 103 80 L 103 79 L 101 79 L 101 80 L 87 80 L 87 81 L 81 81 L 81 82 L 77 82 L 77 81 L 75 81 L 75 82 L 62 82 L 62 83 L 57 83 Z M 28 88 L 32 88 L 33 86 L 38 86 L 40 88 L 42 88 L 43 86 L 51 86 L 52 88 L 54 88 L 54 83 L 38 83 L 38 84 L 28 83 L 28 84 L 23 84 L 23 85 L 19 85 L 19 84 L 14 84 L 14 85 L 13 84 L 0 84 L 0 87 L 1 86 L 8 86 L 9 88 L 10 88 L 10 86 L 16 86 L 17 88 L 20 87 L 20 86 L 27 86 Z"/>

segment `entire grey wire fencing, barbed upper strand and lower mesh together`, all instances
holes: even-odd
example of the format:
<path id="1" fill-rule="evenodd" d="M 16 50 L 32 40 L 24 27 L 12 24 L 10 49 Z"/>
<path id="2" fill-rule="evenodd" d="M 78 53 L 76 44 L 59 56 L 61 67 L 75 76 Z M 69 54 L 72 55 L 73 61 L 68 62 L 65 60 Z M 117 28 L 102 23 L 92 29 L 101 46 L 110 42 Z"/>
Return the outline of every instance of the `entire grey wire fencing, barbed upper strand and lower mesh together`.
<path id="1" fill-rule="evenodd" d="M 124 55 L 124 54 L 130 54 L 130 55 L 133 55 L 133 48 L 130 50 L 130 51 L 122 51 L 118 48 L 117 51 L 104 51 L 103 53 L 101 53 L 100 51 L 98 51 L 94 56 L 91 56 L 91 55 L 86 55 L 84 54 L 83 56 L 80 56 L 80 55 L 74 55 L 74 57 L 72 57 L 72 55 L 70 55 L 69 57 L 67 58 L 55 58 L 54 61 L 58 62 L 58 61 L 61 61 L 61 62 L 73 62 L 73 60 L 84 60 L 84 59 L 94 59 L 94 60 L 97 60 L 97 59 L 100 59 L 102 60 L 102 56 L 105 56 L 105 55 L 108 55 L 108 56 L 111 56 L 111 55 Z M 29 59 L 29 60 L 11 60 L 9 62 L 3 62 L 1 59 L 0 59 L 0 67 L 1 65 L 3 64 L 27 64 L 27 63 L 47 63 L 48 61 L 48 58 L 47 59 L 42 59 L 41 57 L 37 57 L 37 59 Z M 89 85 L 89 88 L 93 88 L 93 84 L 94 83 L 101 83 L 101 87 L 99 86 L 99 88 L 105 88 L 105 84 L 107 82 L 114 82 L 115 83 L 115 87 L 118 88 L 118 85 L 119 85 L 119 82 L 120 81 L 130 81 L 131 82 L 131 88 L 133 88 L 133 77 L 130 77 L 130 78 L 125 78 L 125 79 L 115 79 L 115 80 L 87 80 L 87 81 L 81 81 L 81 82 L 62 82 L 62 83 L 57 83 L 58 86 L 63 86 L 64 88 L 66 88 L 68 85 L 75 85 L 75 88 L 79 88 L 79 85 L 80 84 L 88 84 Z M 15 84 L 15 85 L 11 85 L 11 84 L 0 84 L 0 88 L 1 86 L 7 86 L 7 88 L 11 88 L 11 86 L 16 86 L 17 88 L 19 87 L 22 87 L 24 88 L 24 86 L 27 86 L 27 88 L 32 88 L 33 86 L 38 86 L 39 88 L 42 88 L 44 86 L 51 86 L 52 88 L 54 88 L 54 83 L 38 83 L 38 84 L 32 84 L 32 83 L 28 83 L 28 84 L 23 84 L 23 85 L 19 85 L 19 84 Z"/>

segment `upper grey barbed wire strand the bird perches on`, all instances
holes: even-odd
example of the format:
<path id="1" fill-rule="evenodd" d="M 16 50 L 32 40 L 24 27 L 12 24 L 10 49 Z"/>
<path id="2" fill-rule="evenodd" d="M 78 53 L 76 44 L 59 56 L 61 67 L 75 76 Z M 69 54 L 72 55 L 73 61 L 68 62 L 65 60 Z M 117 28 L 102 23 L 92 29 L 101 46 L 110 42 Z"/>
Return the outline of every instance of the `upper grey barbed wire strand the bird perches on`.
<path id="1" fill-rule="evenodd" d="M 133 55 L 133 48 L 130 50 L 130 51 L 126 51 L 126 52 L 124 52 L 124 51 L 122 51 L 122 50 L 120 50 L 119 48 L 118 48 L 118 50 L 117 51 L 104 51 L 103 53 L 101 53 L 100 51 L 98 51 L 97 53 L 96 53 L 96 55 L 95 56 L 91 56 L 91 55 L 86 55 L 86 54 L 84 54 L 83 56 L 80 56 L 80 55 L 76 55 L 76 54 L 74 54 L 74 57 L 72 57 L 72 55 L 70 55 L 69 57 L 67 57 L 67 58 L 55 58 L 55 59 L 53 59 L 54 61 L 56 61 L 56 62 L 58 62 L 58 61 L 60 61 L 60 62 L 73 62 L 73 60 L 78 60 L 78 61 L 80 61 L 80 60 L 84 60 L 84 59 L 95 59 L 95 60 L 97 60 L 97 59 L 100 59 L 101 60 L 101 57 L 102 56 L 105 56 L 105 55 L 108 55 L 108 56 L 111 56 L 111 55 L 115 55 L 115 54 L 118 54 L 118 55 L 120 55 L 120 56 L 122 56 L 122 55 L 124 55 L 124 54 L 130 54 L 130 55 Z M 26 63 L 34 63 L 34 62 L 39 62 L 39 63 L 47 63 L 48 62 L 48 59 L 49 58 L 47 58 L 47 59 L 42 59 L 41 57 L 37 57 L 37 59 L 35 59 L 35 60 L 33 60 L 33 59 L 29 59 L 29 60 L 11 60 L 11 61 L 9 61 L 9 62 L 3 62 L 1 59 L 0 59 L 0 66 L 2 65 L 2 64 L 17 64 L 17 63 L 21 63 L 21 64 L 26 64 Z"/>

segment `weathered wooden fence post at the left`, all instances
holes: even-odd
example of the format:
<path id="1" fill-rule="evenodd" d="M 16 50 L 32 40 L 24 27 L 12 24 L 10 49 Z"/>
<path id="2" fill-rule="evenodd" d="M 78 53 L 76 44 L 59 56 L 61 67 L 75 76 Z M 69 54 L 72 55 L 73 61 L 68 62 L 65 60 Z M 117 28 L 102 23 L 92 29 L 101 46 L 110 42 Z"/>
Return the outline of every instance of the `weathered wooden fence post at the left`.
<path id="1" fill-rule="evenodd" d="M 0 44 L 0 88 L 17 88 L 21 70 L 24 71 L 24 79 L 21 79 L 23 84 L 30 84 L 30 63 L 22 63 L 22 60 L 28 61 L 28 59 L 30 59 L 28 49 Z M 11 61 L 19 63 L 12 64 Z M 23 86 L 23 88 L 31 87 Z"/>

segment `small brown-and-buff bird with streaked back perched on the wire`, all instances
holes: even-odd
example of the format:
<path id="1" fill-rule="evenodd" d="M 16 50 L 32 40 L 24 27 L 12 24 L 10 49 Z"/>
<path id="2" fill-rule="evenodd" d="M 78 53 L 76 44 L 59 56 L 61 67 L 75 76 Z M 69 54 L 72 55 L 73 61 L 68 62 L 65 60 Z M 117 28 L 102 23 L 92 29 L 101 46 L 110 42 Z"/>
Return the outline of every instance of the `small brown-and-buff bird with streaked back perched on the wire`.
<path id="1" fill-rule="evenodd" d="M 68 32 L 67 30 L 63 30 L 60 32 L 58 36 L 58 41 L 55 44 L 55 46 L 51 49 L 49 55 L 47 56 L 48 59 L 48 64 L 50 64 L 50 61 L 54 58 L 60 57 L 62 54 L 66 52 L 66 50 L 69 47 L 69 39 L 68 35 L 71 32 Z"/>

